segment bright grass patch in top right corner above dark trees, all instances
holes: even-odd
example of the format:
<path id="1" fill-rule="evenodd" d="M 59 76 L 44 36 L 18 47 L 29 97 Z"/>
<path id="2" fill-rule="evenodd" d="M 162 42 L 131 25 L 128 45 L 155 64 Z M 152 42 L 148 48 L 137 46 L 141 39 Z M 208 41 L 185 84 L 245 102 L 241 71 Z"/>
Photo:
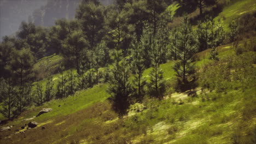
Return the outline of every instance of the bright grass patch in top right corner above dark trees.
<path id="1" fill-rule="evenodd" d="M 227 30 L 229 23 L 237 19 L 240 15 L 255 11 L 256 10 L 256 3 L 254 0 L 240 0 L 228 5 L 225 7 L 215 20 L 223 19 L 224 29 Z"/>

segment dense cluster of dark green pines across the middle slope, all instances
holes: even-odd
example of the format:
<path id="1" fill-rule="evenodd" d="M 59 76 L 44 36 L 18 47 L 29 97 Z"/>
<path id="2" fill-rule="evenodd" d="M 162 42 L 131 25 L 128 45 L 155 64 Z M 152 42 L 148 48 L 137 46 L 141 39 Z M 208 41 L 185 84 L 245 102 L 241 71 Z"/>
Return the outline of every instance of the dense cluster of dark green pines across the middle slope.
<path id="1" fill-rule="evenodd" d="M 163 97 L 165 80 L 160 64 L 170 59 L 176 61 L 177 89 L 193 87 L 194 53 L 213 48 L 211 58 L 217 60 L 216 47 L 223 43 L 224 30 L 221 21 L 216 24 L 206 17 L 193 31 L 187 16 L 181 26 L 170 29 L 167 23 L 175 13 L 166 9 L 170 4 L 166 0 L 117 0 L 104 7 L 98 1 L 83 1 L 74 20 L 57 20 L 49 28 L 22 22 L 16 37 L 4 37 L 0 44 L 3 113 L 11 118 L 32 101 L 42 105 L 99 82 L 109 83 L 114 109 L 125 113 L 131 101 L 141 101 L 146 94 Z M 65 58 L 56 88 L 50 73 L 42 86 L 33 72 L 38 59 L 53 53 Z M 103 81 L 101 67 L 106 68 Z M 146 80 L 142 74 L 150 67 Z M 75 71 L 65 74 L 69 68 Z"/>

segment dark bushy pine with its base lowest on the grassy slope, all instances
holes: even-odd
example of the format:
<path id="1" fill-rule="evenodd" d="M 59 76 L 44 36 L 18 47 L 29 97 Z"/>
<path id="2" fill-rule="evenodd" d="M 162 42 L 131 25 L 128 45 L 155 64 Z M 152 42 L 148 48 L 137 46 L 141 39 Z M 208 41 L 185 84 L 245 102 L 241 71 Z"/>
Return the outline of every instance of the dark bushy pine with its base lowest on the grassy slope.
<path id="1" fill-rule="evenodd" d="M 113 102 L 113 109 L 123 116 L 129 107 L 129 95 L 131 94 L 131 84 L 129 82 L 128 63 L 123 59 L 121 62 L 119 52 L 115 52 L 115 62 L 110 73 L 107 92 Z"/>

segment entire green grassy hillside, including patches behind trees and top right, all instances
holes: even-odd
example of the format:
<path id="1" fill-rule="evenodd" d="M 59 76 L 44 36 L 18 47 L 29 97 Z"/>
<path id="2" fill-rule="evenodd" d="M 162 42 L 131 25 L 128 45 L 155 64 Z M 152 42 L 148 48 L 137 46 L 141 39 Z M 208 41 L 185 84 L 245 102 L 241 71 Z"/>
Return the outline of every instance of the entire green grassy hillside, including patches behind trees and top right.
<path id="1" fill-rule="evenodd" d="M 227 29 L 232 19 L 256 10 L 255 6 L 252 0 L 235 1 L 215 19 L 223 18 Z M 245 47 L 245 41 L 240 41 L 238 47 Z M 227 44 L 217 48 L 219 61 L 212 61 L 210 51 L 195 55 L 198 77 L 195 89 L 173 91 L 174 61 L 168 61 L 160 65 L 167 81 L 162 100 L 146 96 L 142 103 L 130 105 L 127 115 L 119 117 L 108 99 L 108 84 L 100 83 L 67 98 L 29 107 L 1 126 L 13 125 L 10 131 L 0 131 L 0 143 L 256 143 L 256 52 L 242 49 L 236 55 L 231 44 Z M 62 61 L 63 57 L 53 55 L 34 65 L 43 86 L 47 75 L 44 69 L 49 67 L 56 88 Z M 63 74 L 66 76 L 71 70 L 76 73 L 75 69 L 69 69 Z M 144 70 L 146 79 L 150 70 Z M 34 117 L 44 108 L 53 111 Z M 24 121 L 27 118 L 33 119 Z M 38 126 L 21 129 L 31 121 L 38 122 Z"/>

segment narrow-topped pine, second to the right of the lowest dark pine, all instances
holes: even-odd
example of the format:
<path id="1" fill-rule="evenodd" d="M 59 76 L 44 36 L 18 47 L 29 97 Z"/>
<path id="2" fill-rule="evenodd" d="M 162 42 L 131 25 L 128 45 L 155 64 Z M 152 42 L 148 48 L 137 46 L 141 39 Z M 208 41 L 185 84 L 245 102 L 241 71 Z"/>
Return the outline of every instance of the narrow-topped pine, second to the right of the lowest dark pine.
<path id="1" fill-rule="evenodd" d="M 150 70 L 149 77 L 150 81 L 148 83 L 149 95 L 162 99 L 165 92 L 165 81 L 164 72 L 160 68 L 160 55 L 159 55 L 159 45 L 153 43 L 152 50 L 152 70 Z"/>

